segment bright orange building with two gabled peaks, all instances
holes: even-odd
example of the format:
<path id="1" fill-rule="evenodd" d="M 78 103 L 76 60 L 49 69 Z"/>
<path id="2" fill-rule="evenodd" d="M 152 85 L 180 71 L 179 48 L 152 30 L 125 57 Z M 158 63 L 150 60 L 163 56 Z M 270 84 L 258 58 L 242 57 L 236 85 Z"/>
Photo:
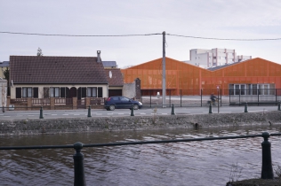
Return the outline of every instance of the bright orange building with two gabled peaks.
<path id="1" fill-rule="evenodd" d="M 210 95 L 217 88 L 222 95 L 281 94 L 281 65 L 262 58 L 253 58 L 229 66 L 207 70 L 165 58 L 166 95 Z M 122 69 L 124 82 L 141 79 L 141 94 L 162 92 L 162 58 Z M 161 93 L 162 94 L 162 93 Z"/>

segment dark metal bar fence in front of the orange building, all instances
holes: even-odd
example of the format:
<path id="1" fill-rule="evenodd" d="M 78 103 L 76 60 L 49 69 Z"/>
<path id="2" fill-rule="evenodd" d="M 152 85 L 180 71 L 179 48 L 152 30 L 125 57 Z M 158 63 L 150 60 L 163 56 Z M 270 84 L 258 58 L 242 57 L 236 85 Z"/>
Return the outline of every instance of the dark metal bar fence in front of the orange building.
<path id="1" fill-rule="evenodd" d="M 163 106 L 162 91 L 149 91 L 149 96 L 141 96 L 144 106 Z M 193 94 L 189 94 L 189 93 Z M 197 92 L 197 94 L 194 94 Z M 227 93 L 227 94 L 226 94 Z M 251 94 L 250 94 L 251 93 Z M 166 90 L 165 106 L 208 105 L 210 95 L 219 97 L 220 105 L 278 105 L 281 102 L 281 89 L 256 89 L 256 91 L 242 91 L 242 89 L 180 89 L 179 96 L 173 96 L 173 89 Z"/>

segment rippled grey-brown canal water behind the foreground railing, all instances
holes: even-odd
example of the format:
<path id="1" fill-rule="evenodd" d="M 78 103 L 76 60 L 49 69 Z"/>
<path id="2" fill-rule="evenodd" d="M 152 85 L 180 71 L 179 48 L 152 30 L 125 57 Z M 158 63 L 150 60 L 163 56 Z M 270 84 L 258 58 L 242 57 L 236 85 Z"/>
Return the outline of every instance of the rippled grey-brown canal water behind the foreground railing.
<path id="1" fill-rule="evenodd" d="M 205 136 L 280 133 L 276 127 L 200 128 L 1 136 L 1 146 L 110 143 Z M 231 168 L 239 180 L 261 176 L 262 137 L 191 143 L 157 143 L 84 148 L 87 185 L 218 186 L 229 182 Z M 270 137 L 273 164 L 281 165 L 281 138 Z M 73 185 L 73 149 L 0 151 L 1 185 Z M 235 177 L 234 179 L 237 179 Z"/>

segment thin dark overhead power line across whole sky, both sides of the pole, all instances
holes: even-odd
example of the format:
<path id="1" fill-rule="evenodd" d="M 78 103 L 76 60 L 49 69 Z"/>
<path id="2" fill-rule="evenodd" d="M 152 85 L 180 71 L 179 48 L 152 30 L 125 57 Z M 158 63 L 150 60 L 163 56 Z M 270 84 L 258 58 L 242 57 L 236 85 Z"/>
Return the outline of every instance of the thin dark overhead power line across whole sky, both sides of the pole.
<path id="1" fill-rule="evenodd" d="M 22 33 L 22 32 L 4 32 L 0 31 L 0 34 L 9 34 L 9 35 L 38 35 L 38 36 L 67 36 L 67 37 L 126 37 L 126 36 L 149 36 L 149 35 L 162 35 L 161 33 L 155 34 L 143 34 L 143 35 L 51 35 L 51 34 L 38 34 L 38 33 Z M 235 39 L 235 38 L 215 38 L 215 37 L 198 37 L 190 35 L 173 35 L 166 34 L 177 37 L 186 37 L 192 39 L 205 39 L 205 40 L 226 40 L 226 41 L 273 41 L 281 40 L 281 38 L 264 38 L 264 39 Z"/>

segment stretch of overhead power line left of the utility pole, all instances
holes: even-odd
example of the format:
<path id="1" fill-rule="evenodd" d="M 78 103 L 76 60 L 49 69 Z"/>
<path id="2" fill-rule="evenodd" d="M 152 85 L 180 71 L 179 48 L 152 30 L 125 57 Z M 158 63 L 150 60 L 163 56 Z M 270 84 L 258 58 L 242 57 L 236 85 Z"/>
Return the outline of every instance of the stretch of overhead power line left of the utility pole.
<path id="1" fill-rule="evenodd" d="M 162 35 L 162 34 L 144 34 L 144 35 L 50 35 L 50 34 L 36 34 L 36 33 L 22 33 L 22 32 L 2 32 L 1 34 L 9 35 L 39 35 L 39 36 L 66 36 L 66 37 L 125 37 L 125 36 L 149 36 L 149 35 Z"/>

